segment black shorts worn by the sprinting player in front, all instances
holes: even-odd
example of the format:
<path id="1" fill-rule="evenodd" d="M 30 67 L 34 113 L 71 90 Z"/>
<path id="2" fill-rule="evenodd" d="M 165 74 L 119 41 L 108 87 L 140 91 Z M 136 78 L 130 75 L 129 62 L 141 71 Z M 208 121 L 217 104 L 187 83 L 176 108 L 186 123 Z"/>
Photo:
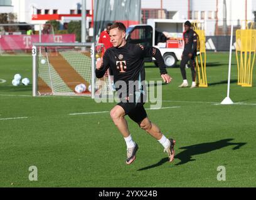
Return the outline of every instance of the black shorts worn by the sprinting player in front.
<path id="1" fill-rule="evenodd" d="M 128 115 L 129 118 L 131 118 L 137 124 L 140 124 L 141 121 L 147 117 L 147 113 L 143 106 L 144 103 L 120 102 L 117 105 L 121 106 L 125 111 L 125 115 Z"/>

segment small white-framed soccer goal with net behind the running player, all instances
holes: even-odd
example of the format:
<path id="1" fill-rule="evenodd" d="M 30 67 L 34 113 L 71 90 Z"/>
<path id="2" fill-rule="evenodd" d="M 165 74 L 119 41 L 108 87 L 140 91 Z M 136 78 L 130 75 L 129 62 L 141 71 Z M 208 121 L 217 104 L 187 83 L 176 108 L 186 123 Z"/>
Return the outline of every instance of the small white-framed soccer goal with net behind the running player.
<path id="1" fill-rule="evenodd" d="M 101 49 L 90 42 L 33 44 L 33 96 L 110 93 L 109 72 L 95 78 L 95 56 Z"/>

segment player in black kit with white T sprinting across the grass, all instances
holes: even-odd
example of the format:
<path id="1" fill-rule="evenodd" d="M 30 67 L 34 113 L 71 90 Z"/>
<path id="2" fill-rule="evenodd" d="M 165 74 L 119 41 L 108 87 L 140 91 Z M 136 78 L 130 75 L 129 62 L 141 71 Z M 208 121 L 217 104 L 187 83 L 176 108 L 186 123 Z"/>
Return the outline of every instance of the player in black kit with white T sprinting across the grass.
<path id="1" fill-rule="evenodd" d="M 171 77 L 167 74 L 159 49 L 126 42 L 125 31 L 126 28 L 121 22 L 115 22 L 110 27 L 109 36 L 113 47 L 107 49 L 103 59 L 97 61 L 95 74 L 97 78 L 102 78 L 108 68 L 112 69 L 120 103 L 112 108 L 110 116 L 127 145 L 126 163 L 131 164 L 136 159 L 138 145 L 132 140 L 127 121 L 124 118 L 125 115 L 128 115 L 129 118 L 163 145 L 164 151 L 168 153 L 169 161 L 171 162 L 174 159 L 175 141 L 174 139 L 167 139 L 156 124 L 149 120 L 143 106 L 146 89 L 144 84 L 142 84 L 145 80 L 144 57 L 151 56 L 156 58 L 161 77 L 165 83 L 170 83 Z M 122 83 L 125 83 L 126 87 L 124 85 L 120 87 L 118 85 L 120 81 L 123 81 Z M 136 84 L 130 84 L 129 81 Z"/>

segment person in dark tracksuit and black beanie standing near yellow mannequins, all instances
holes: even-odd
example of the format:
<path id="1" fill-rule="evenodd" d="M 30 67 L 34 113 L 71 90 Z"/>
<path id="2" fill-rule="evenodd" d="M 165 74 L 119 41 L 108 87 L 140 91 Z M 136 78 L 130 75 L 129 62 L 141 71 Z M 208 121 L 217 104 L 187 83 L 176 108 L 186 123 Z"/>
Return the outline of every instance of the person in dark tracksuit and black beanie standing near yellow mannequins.
<path id="1" fill-rule="evenodd" d="M 183 83 L 179 88 L 188 87 L 188 80 L 186 79 L 186 64 L 189 62 L 189 66 L 192 74 L 192 84 L 190 88 L 196 88 L 196 69 L 195 69 L 195 58 L 196 58 L 196 47 L 198 36 L 191 27 L 191 22 L 186 21 L 184 24 L 184 51 L 181 56 L 181 75 L 183 77 Z"/>

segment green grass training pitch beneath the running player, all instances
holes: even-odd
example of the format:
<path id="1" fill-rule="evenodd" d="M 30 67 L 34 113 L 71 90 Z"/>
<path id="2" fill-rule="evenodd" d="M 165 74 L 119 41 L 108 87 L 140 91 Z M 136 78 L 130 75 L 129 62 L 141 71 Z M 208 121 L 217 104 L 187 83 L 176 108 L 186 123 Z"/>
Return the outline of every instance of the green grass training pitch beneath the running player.
<path id="1" fill-rule="evenodd" d="M 228 106 L 218 104 L 227 95 L 228 53 L 208 53 L 208 88 L 178 88 L 179 68 L 168 69 L 173 81 L 163 84 L 162 106 L 178 108 L 147 114 L 176 139 L 176 158 L 168 163 L 163 147 L 127 119 L 139 144 L 136 161 L 127 166 L 124 139 L 109 113 L 69 115 L 110 111 L 115 103 L 33 98 L 31 84 L 11 84 L 16 73 L 32 81 L 31 56 L 0 56 L 0 79 L 6 80 L 0 83 L 0 186 L 255 187 L 256 88 L 237 86 L 235 54 L 232 61 L 230 98 L 237 104 Z M 146 64 L 146 79 L 161 80 L 154 64 Z M 5 120 L 18 117 L 26 118 Z M 29 181 L 29 166 L 37 167 L 38 181 Z M 218 166 L 225 167 L 226 181 L 217 180 Z"/>

